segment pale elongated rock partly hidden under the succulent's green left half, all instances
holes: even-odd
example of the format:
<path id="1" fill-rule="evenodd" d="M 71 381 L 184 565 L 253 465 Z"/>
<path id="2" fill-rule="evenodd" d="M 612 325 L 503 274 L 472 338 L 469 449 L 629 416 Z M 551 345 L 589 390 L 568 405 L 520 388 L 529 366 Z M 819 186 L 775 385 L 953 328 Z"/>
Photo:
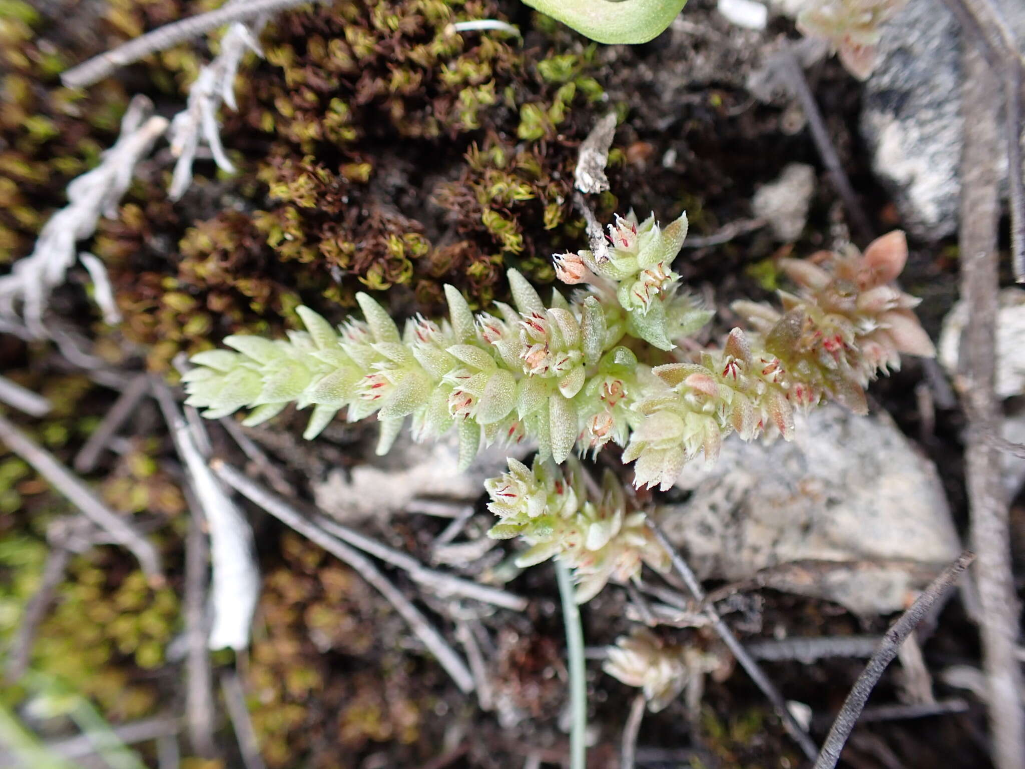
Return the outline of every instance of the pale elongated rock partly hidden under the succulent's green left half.
<path id="1" fill-rule="evenodd" d="M 416 497 L 473 502 L 484 493 L 484 481 L 507 469 L 505 457 L 522 458 L 531 450 L 491 446 L 469 470 L 459 472 L 459 447 L 454 436 L 437 443 L 413 443 L 403 434 L 384 456 L 372 457 L 351 470 L 331 471 L 313 486 L 317 505 L 342 523 L 387 519 L 403 512 Z"/>

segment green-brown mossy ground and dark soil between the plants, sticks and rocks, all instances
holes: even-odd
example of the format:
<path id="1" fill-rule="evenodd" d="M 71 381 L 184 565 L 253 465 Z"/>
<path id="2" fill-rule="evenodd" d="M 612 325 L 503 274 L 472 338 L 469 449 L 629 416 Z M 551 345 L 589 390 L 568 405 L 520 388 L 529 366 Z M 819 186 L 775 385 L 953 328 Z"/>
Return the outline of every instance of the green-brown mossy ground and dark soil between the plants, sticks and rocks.
<path id="1" fill-rule="evenodd" d="M 0 266 L 29 253 L 46 217 L 64 204 L 67 183 L 113 141 L 129 95 L 145 92 L 159 111 L 172 113 L 216 46 L 207 50 L 198 41 L 166 51 L 84 95 L 60 88 L 57 73 L 214 4 L 0 0 Z M 706 235 L 749 216 L 757 185 L 787 162 L 817 160 L 806 135 L 784 130 L 779 108 L 750 99 L 743 88 L 749 51 L 723 42 L 731 28 L 713 5 L 691 0 L 687 8 L 689 23 L 705 33 L 673 33 L 636 48 L 588 44 L 511 0 L 339 0 L 283 13 L 262 37 L 265 59 L 250 56 L 243 67 L 239 111 L 222 114 L 223 143 L 238 173 L 219 173 L 201 160 L 193 189 L 173 204 L 165 193 L 170 161 L 158 153 L 139 169 L 118 218 L 102 220 L 86 244 L 110 270 L 122 325 L 102 324 L 78 275 L 54 295 L 52 311 L 96 340 L 93 352 L 107 366 L 169 372 L 177 353 L 211 347 L 229 333 L 294 327 L 300 303 L 339 321 L 358 290 L 373 291 L 396 316 L 437 312 L 446 282 L 475 307 L 487 306 L 506 297 L 506 268 L 549 283 L 549 255 L 583 245 L 572 170 L 579 143 L 609 111 L 622 124 L 610 156 L 612 190 L 598 201 L 601 217 L 633 207 L 668 220 L 686 209 L 691 232 Z M 448 31 L 454 21 L 482 17 L 519 25 L 523 39 Z M 844 127 L 855 114 L 856 88 L 831 65 L 818 75 L 831 127 L 849 139 L 840 146 L 845 163 L 866 201 L 881 201 Z M 820 186 L 815 226 L 797 248 L 824 242 L 831 203 Z M 869 207 L 870 215 L 886 217 L 884 202 Z M 771 238 L 755 233 L 714 250 L 685 251 L 675 269 L 697 290 L 713 287 L 723 302 L 761 295 L 774 255 Z M 916 274 L 935 278 L 936 262 L 926 261 Z M 5 375 L 51 397 L 50 415 L 19 421 L 70 462 L 110 407 L 111 391 L 69 373 L 44 345 L 0 336 L 0 360 Z M 896 392 L 900 385 L 890 397 L 907 413 L 910 396 Z M 297 424 L 276 423 L 284 438 L 273 453 L 303 493 L 312 455 L 318 467 L 361 460 L 364 444 L 351 440 L 348 430 L 291 450 L 285 443 Z M 107 454 L 87 480 L 119 511 L 158 524 L 154 537 L 169 564 L 169 585 L 146 586 L 129 557 L 113 548 L 75 559 L 33 657 L 36 669 L 60 677 L 115 724 L 179 709 L 181 701 L 181 663 L 165 656 L 181 631 L 188 514 L 179 474 L 152 407 L 126 434 L 119 453 Z M 19 459 L 0 454 L 0 641 L 9 638 L 38 581 L 46 524 L 70 512 Z M 499 718 L 458 693 L 355 572 L 257 520 L 264 583 L 253 646 L 248 655 L 215 661 L 243 672 L 269 766 L 416 767 L 464 745 L 451 766 L 506 769 L 525 761 L 527 745 L 548 758 L 565 754 L 564 642 L 545 568 L 516 583 L 535 599 L 526 614 L 478 618 L 493 642 L 488 653 L 503 703 Z M 433 525 L 401 519 L 393 533 L 427 560 L 423 542 L 438 533 Z M 391 576 L 412 595 L 402 575 Z M 611 643 L 628 628 L 614 591 L 592 601 L 585 615 L 591 645 Z M 773 594 L 761 615 L 765 633 L 777 617 L 793 633 L 883 626 Z M 705 632 L 684 633 L 692 643 L 714 646 Z M 779 665 L 774 677 L 787 696 L 835 706 L 857 665 L 811 670 Z M 594 665 L 590 689 L 592 764 L 616 766 L 632 692 Z M 11 689 L 2 700 L 24 704 L 24 697 Z M 963 729 L 968 721 L 953 723 Z M 687 726 L 682 703 L 648 717 L 642 743 L 679 745 L 684 732 L 699 748 L 686 759 L 692 767 L 796 766 L 779 724 L 739 674 L 709 683 L 698 723 Z M 955 754 L 945 753 L 942 740 L 926 744 L 916 725 L 887 734 L 903 740 L 908 767 L 956 763 L 949 763 Z M 187 758 L 183 765 L 236 762 Z"/>

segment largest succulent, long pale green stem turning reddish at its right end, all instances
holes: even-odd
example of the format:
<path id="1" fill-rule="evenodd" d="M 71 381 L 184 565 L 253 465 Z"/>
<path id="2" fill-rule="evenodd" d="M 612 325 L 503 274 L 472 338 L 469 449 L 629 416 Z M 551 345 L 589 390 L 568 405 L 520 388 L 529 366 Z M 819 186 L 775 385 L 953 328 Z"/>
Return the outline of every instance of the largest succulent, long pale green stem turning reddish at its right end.
<path id="1" fill-rule="evenodd" d="M 299 308 L 306 331 L 287 340 L 230 336 L 235 352 L 194 356 L 189 403 L 209 417 L 252 408 L 248 424 L 292 402 L 312 406 L 306 438 L 342 408 L 351 421 L 376 413 L 379 453 L 411 417 L 417 441 L 455 430 L 463 467 L 496 441 L 530 438 L 542 459 L 560 463 L 574 447 L 611 441 L 637 462 L 634 485 L 665 489 L 699 453 L 713 460 L 731 433 L 789 439 L 794 411 L 829 399 L 864 412 L 864 387 L 896 368 L 900 353 L 933 354 L 911 313 L 916 300 L 892 285 L 907 244 L 891 233 L 864 254 L 848 247 L 783 260 L 799 291 L 780 292 L 782 312 L 737 302 L 750 332 L 734 329 L 722 349 L 646 364 L 639 353 L 657 362 L 652 348 L 672 351 L 710 317 L 670 269 L 685 222 L 662 230 L 653 219 L 617 218 L 607 254 L 557 256 L 560 275 L 581 288 L 570 299 L 554 291 L 548 306 L 510 270 L 516 308 L 498 302 L 495 315 L 475 316 L 447 286 L 449 320 L 417 317 L 402 333 L 367 294 L 358 295 L 366 320 L 340 330 Z"/>

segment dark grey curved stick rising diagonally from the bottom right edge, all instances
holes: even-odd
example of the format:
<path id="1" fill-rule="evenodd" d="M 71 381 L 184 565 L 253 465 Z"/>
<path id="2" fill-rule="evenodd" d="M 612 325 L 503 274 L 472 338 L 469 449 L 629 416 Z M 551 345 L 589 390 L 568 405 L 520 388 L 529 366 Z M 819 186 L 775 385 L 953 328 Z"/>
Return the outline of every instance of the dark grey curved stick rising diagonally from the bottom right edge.
<path id="1" fill-rule="evenodd" d="M 868 700 L 868 695 L 871 694 L 872 689 L 875 688 L 875 684 L 878 683 L 879 677 L 883 676 L 883 672 L 893 661 L 894 657 L 897 656 L 901 644 L 911 635 L 915 625 L 918 624 L 919 620 L 929 611 L 929 607 L 954 586 L 960 573 L 968 568 L 968 565 L 973 560 L 975 560 L 975 554 L 971 551 L 961 553 L 956 561 L 945 568 L 943 573 L 930 582 L 929 586 L 922 591 L 917 600 L 911 604 L 911 607 L 901 614 L 896 622 L 890 625 L 890 630 L 883 637 L 883 641 L 879 643 L 875 653 L 868 660 L 865 670 L 862 671 L 858 680 L 855 681 L 851 693 L 844 700 L 844 706 L 836 716 L 836 720 L 833 721 L 832 728 L 826 736 L 826 741 L 822 743 L 822 752 L 815 760 L 814 769 L 832 769 L 836 766 L 839 754 L 844 750 L 844 744 L 847 742 L 847 738 L 851 736 L 851 731 L 858 722 L 858 716 L 864 709 L 865 702 Z"/>

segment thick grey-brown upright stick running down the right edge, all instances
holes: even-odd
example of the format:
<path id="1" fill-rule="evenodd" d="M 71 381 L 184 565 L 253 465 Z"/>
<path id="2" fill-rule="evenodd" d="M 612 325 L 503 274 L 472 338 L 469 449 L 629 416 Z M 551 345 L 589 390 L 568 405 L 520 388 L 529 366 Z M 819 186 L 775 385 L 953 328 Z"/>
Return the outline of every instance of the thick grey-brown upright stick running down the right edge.
<path id="1" fill-rule="evenodd" d="M 966 46 L 962 86 L 965 149 L 961 156 L 961 296 L 969 308 L 962 346 L 965 372 L 957 381 L 968 417 L 966 481 L 971 538 L 979 554 L 983 667 L 989 685 L 989 721 L 994 763 L 999 769 L 1025 769 L 1025 718 L 1018 695 L 1021 669 L 1015 659 L 1019 605 L 1011 564 L 1008 500 L 1000 481 L 999 451 L 989 439 L 998 423 L 996 312 L 999 307 L 999 136 L 997 83 L 982 55 Z"/>

